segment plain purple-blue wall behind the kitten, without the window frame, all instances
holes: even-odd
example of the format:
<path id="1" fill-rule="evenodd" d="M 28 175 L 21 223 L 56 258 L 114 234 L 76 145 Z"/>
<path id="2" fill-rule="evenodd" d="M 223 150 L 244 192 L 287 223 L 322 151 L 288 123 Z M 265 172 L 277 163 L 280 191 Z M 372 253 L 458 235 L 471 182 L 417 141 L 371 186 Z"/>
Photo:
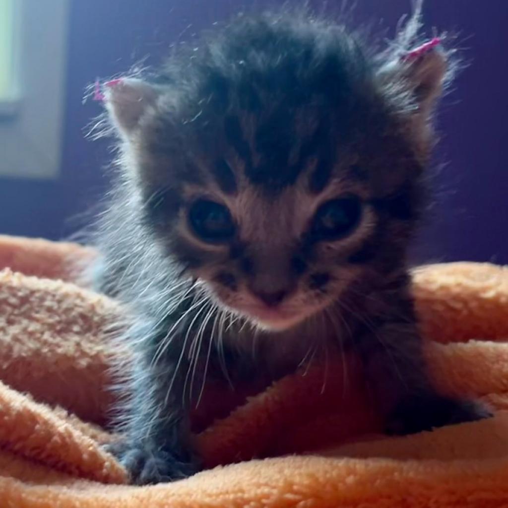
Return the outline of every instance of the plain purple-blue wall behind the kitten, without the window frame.
<path id="1" fill-rule="evenodd" d="M 258 0 L 256 5 L 279 3 Z M 82 104 L 85 85 L 96 76 L 124 71 L 148 54 L 148 63 L 157 62 L 170 43 L 224 19 L 239 4 L 238 0 L 72 0 L 60 177 L 45 182 L 0 179 L 0 233 L 49 238 L 72 233 L 78 214 L 96 203 L 107 185 L 101 176 L 109 157 L 107 144 L 83 137 L 85 125 L 99 112 L 93 102 Z M 409 5 L 409 0 L 358 0 L 355 18 L 382 17 L 384 26 L 393 29 Z M 427 23 L 459 31 L 459 45 L 471 65 L 460 75 L 440 117 L 438 159 L 447 164 L 436 178 L 439 200 L 432 224 L 422 235 L 420 257 L 508 263 L 508 239 L 503 236 L 508 176 L 501 147 L 507 134 L 502 113 L 508 106 L 506 19 L 506 0 L 426 0 Z"/>

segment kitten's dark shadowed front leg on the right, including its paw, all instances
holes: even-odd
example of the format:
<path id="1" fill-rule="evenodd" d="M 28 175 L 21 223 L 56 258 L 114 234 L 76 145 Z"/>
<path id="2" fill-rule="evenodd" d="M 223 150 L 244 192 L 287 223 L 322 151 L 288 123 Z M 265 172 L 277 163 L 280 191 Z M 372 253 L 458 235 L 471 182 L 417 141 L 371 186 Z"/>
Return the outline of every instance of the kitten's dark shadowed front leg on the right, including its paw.
<path id="1" fill-rule="evenodd" d="M 389 434 L 412 434 L 487 418 L 478 402 L 440 395 L 424 365 L 422 340 L 410 320 L 385 317 L 366 327 L 359 344 L 375 405 Z"/>

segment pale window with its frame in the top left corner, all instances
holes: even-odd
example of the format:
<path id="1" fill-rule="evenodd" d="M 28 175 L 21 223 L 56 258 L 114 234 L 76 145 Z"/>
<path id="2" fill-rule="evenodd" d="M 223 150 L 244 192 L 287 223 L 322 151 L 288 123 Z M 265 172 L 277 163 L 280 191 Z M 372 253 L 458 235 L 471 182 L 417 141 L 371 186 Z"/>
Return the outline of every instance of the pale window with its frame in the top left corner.
<path id="1" fill-rule="evenodd" d="M 0 0 L 0 176 L 59 171 L 69 0 Z"/>

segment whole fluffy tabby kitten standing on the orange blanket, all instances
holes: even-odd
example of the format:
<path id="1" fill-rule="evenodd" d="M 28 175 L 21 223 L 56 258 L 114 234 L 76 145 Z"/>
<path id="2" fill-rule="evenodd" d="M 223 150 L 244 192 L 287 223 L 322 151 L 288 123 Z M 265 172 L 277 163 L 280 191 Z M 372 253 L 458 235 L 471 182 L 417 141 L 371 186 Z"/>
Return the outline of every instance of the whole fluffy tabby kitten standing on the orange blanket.
<path id="1" fill-rule="evenodd" d="M 331 23 L 240 16 L 153 79 L 106 87 L 120 171 L 98 287 L 132 318 L 113 452 L 133 482 L 199 469 L 188 413 L 207 379 L 270 382 L 341 348 L 387 432 L 488 416 L 435 392 L 409 291 L 449 76 L 442 49 L 401 58 L 418 26 L 374 55 Z"/>

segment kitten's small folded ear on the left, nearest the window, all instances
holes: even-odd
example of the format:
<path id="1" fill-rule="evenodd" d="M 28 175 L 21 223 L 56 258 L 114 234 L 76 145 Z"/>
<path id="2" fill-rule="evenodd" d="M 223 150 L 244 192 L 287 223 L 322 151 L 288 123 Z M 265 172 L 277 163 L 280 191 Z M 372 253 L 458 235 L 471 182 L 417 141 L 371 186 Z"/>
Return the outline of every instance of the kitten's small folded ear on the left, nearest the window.
<path id="1" fill-rule="evenodd" d="M 158 93 L 154 86 L 136 78 L 106 83 L 104 101 L 118 132 L 129 137 L 150 109 L 155 109 Z"/>

